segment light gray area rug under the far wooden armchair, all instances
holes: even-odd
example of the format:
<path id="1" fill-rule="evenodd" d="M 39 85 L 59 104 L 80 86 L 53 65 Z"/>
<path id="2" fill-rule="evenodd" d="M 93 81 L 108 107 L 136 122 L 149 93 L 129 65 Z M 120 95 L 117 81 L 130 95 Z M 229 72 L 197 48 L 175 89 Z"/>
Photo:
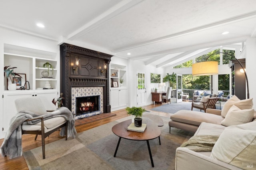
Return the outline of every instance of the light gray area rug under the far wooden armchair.
<path id="1" fill-rule="evenodd" d="M 191 102 L 171 103 L 169 105 L 160 105 L 159 107 L 155 107 L 151 110 L 165 112 L 165 113 L 176 113 L 177 111 L 180 111 L 180 110 L 191 111 L 191 105 L 192 105 Z M 193 108 L 193 111 L 200 112 L 200 109 Z M 202 110 L 201 112 L 204 112 L 204 110 Z"/>

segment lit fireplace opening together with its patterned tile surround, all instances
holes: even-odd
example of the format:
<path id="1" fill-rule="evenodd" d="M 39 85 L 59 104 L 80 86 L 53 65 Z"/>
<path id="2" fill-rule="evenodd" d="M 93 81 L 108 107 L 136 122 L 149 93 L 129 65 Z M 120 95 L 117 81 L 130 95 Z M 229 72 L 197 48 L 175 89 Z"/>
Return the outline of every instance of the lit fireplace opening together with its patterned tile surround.
<path id="1" fill-rule="evenodd" d="M 104 112 L 103 87 L 72 87 L 71 92 L 71 112 L 75 115 L 75 119 L 90 117 Z"/>

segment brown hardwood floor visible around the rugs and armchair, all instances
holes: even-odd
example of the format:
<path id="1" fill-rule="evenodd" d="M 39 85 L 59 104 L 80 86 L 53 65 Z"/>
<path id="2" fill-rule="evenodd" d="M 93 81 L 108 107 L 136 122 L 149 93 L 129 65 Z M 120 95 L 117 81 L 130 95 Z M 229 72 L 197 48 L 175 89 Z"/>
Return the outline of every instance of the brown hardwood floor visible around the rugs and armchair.
<path id="1" fill-rule="evenodd" d="M 166 103 L 164 103 L 166 104 Z M 158 107 L 160 106 L 159 104 L 152 104 L 152 105 L 148 105 L 145 106 L 143 108 L 145 109 L 152 109 L 154 107 Z M 90 128 L 94 128 L 94 127 L 98 127 L 100 125 L 104 125 L 106 123 L 121 119 L 123 117 L 127 117 L 127 113 L 125 111 L 125 109 L 119 110 L 119 111 L 114 111 L 112 112 L 116 115 L 111 116 L 111 117 L 107 117 L 104 119 L 100 119 L 100 120 L 96 120 L 96 121 L 92 121 L 86 124 L 82 124 L 82 125 L 78 125 L 76 126 L 76 131 L 79 132 L 83 132 L 85 130 L 88 130 Z M 168 113 L 163 113 L 163 112 L 158 112 L 158 115 L 164 116 L 164 117 L 170 117 L 170 114 Z M 86 119 L 86 118 L 84 118 Z M 22 148 L 23 148 L 23 152 L 36 148 L 38 146 L 41 146 L 42 142 L 40 140 L 40 137 L 38 137 L 37 140 L 34 140 L 35 135 L 31 135 L 31 134 L 23 134 L 22 135 Z M 54 142 L 56 140 L 59 140 L 61 138 L 64 137 L 60 137 L 59 136 L 59 132 L 56 131 L 54 133 L 52 133 L 50 135 L 50 137 L 46 137 L 45 138 L 45 144 L 48 144 L 50 142 Z M 0 139 L 0 145 L 2 145 L 3 139 Z M 46 155 L 47 157 L 47 155 Z M 24 159 L 24 156 L 19 156 L 17 158 L 13 158 L 13 159 L 9 159 L 8 157 L 2 157 L 0 156 L 0 170 L 28 170 L 28 166 L 26 164 L 26 161 Z"/>

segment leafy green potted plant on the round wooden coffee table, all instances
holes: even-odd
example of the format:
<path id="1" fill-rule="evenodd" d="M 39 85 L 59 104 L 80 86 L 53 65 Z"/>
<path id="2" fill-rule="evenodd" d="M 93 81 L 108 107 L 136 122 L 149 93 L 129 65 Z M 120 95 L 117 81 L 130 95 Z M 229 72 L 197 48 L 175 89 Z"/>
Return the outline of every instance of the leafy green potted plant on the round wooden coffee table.
<path id="1" fill-rule="evenodd" d="M 128 115 L 134 115 L 134 126 L 141 127 L 142 126 L 142 113 L 146 111 L 142 107 L 126 107 L 125 109 Z"/>

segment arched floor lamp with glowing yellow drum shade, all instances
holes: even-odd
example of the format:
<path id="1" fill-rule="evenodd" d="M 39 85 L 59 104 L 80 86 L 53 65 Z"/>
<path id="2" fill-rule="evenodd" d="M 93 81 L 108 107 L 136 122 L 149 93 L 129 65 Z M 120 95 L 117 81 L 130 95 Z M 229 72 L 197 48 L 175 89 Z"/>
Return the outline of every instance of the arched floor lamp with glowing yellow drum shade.
<path id="1" fill-rule="evenodd" d="M 218 61 L 207 61 L 207 60 L 210 56 L 212 56 L 214 54 L 220 54 L 220 53 L 224 53 L 224 52 L 212 53 L 211 55 L 209 55 L 206 58 L 206 61 L 192 64 L 192 75 L 194 76 L 194 75 L 215 75 L 215 74 L 218 74 Z M 234 57 L 234 56 L 232 56 L 228 53 L 224 53 L 224 54 L 234 58 L 240 64 L 240 66 L 242 67 L 242 69 L 244 71 L 245 79 L 246 79 L 246 85 L 247 85 L 247 99 L 249 99 L 250 96 L 249 96 L 248 78 L 247 78 L 246 71 L 245 71 L 244 67 L 242 66 L 242 63 L 240 63 L 240 61 L 236 57 Z"/>

